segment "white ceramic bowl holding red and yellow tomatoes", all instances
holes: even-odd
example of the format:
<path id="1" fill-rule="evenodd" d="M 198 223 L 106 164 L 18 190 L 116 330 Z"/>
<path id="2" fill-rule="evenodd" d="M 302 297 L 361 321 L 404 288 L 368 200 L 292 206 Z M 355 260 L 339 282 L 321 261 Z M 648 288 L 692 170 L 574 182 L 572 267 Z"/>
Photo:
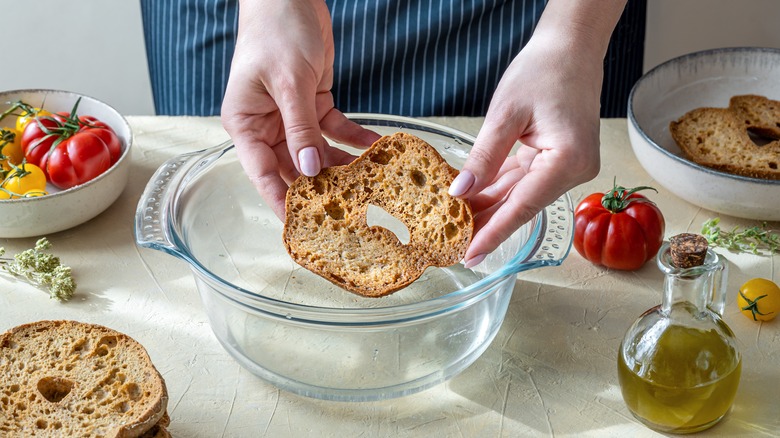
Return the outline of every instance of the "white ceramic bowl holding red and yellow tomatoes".
<path id="1" fill-rule="evenodd" d="M 124 190 L 130 172 L 132 132 L 127 120 L 114 108 L 89 96 L 60 90 L 14 90 L 0 92 L 0 107 L 22 100 L 51 112 L 70 111 L 81 97 L 80 115 L 97 117 L 114 129 L 122 141 L 122 156 L 97 178 L 67 190 L 50 190 L 37 198 L 0 201 L 0 237 L 34 237 L 82 224 L 108 208 Z M 0 122 L 10 127 L 15 117 Z"/>

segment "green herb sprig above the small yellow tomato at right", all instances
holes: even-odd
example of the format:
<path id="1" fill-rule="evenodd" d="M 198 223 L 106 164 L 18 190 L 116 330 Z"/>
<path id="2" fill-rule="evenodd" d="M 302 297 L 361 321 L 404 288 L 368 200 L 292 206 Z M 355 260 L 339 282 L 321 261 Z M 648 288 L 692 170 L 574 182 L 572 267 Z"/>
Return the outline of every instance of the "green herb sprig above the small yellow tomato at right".
<path id="1" fill-rule="evenodd" d="M 702 224 L 701 233 L 710 245 L 757 255 L 780 253 L 780 233 L 767 228 L 766 222 L 760 226 L 734 227 L 731 231 L 722 230 L 719 223 L 720 218 L 713 218 Z"/>

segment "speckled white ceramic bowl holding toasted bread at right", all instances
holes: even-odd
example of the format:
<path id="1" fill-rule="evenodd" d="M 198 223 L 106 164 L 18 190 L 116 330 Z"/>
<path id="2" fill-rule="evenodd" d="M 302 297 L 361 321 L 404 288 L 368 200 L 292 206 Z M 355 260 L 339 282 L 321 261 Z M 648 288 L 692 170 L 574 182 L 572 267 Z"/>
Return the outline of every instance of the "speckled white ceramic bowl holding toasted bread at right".
<path id="1" fill-rule="evenodd" d="M 731 96 L 780 100 L 780 49 L 740 47 L 691 53 L 647 72 L 628 100 L 628 133 L 637 159 L 658 184 L 716 213 L 780 220 L 780 181 L 731 175 L 685 159 L 669 123 Z"/>

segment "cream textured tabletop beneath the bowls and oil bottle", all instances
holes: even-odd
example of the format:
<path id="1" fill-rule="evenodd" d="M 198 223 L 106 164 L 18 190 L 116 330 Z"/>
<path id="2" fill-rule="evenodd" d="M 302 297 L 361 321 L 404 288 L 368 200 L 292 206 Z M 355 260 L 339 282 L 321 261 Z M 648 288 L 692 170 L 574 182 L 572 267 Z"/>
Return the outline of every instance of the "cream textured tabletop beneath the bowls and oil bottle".
<path id="1" fill-rule="evenodd" d="M 660 303 L 663 276 L 653 262 L 636 272 L 614 272 L 574 250 L 559 267 L 520 274 L 490 348 L 447 383 L 399 399 L 344 403 L 296 396 L 256 378 L 212 335 L 188 265 L 137 247 L 133 236 L 138 198 L 158 166 L 227 135 L 217 118 L 128 120 L 135 143 L 121 197 L 91 221 L 48 236 L 73 268 L 77 295 L 61 304 L 3 277 L 0 331 L 39 319 L 75 319 L 129 334 L 147 348 L 167 382 L 174 437 L 661 436 L 637 423 L 623 404 L 616 356 L 628 326 Z M 434 120 L 472 134 L 481 124 L 471 118 Z M 609 189 L 617 177 L 626 187 L 658 187 L 650 196 L 667 219 L 667 238 L 699 232 L 705 220 L 717 216 L 663 190 L 644 172 L 631 151 L 625 119 L 603 120 L 601 141 L 601 173 L 571 191 L 575 205 Z M 756 222 L 723 217 L 722 225 Z M 9 253 L 34 241 L 0 239 Z M 699 435 L 778 436 L 780 319 L 752 322 L 738 312 L 735 299 L 750 278 L 780 282 L 780 256 L 718 252 L 729 263 L 724 318 L 742 345 L 742 380 L 732 412 Z"/>

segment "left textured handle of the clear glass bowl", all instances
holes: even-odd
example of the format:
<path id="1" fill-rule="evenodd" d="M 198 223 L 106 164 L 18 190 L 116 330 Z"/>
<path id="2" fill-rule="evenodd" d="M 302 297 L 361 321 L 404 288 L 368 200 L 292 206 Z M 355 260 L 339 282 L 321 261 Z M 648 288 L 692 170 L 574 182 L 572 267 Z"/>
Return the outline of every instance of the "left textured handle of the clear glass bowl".
<path id="1" fill-rule="evenodd" d="M 217 146 L 177 155 L 164 162 L 146 184 L 135 211 L 135 240 L 139 246 L 183 257 L 170 238 L 170 214 L 176 208 L 179 188 L 187 180 L 197 177 L 197 169 L 208 169 L 211 164 L 233 147 L 232 141 Z"/>

